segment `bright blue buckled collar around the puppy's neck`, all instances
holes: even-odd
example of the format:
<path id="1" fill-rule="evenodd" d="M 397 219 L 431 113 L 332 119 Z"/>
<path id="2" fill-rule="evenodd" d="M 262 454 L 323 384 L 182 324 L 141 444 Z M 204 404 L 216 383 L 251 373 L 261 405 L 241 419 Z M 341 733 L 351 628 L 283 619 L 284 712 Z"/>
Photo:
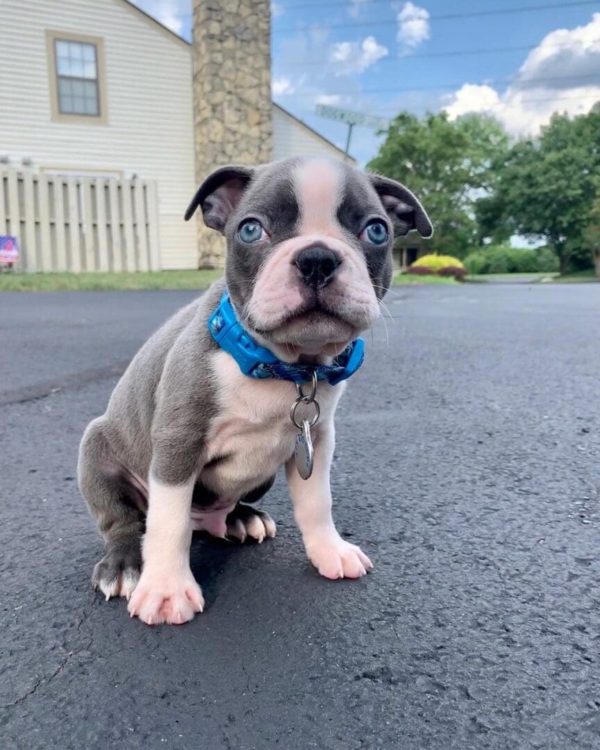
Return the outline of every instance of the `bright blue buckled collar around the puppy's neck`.
<path id="1" fill-rule="evenodd" d="M 248 377 L 308 383 L 313 371 L 316 371 L 317 380 L 328 380 L 331 386 L 337 386 L 356 373 L 365 359 L 365 342 L 357 338 L 334 359 L 332 365 L 292 365 L 282 362 L 268 349 L 260 347 L 242 328 L 226 290 L 218 308 L 208 318 L 208 330 L 223 352 L 230 354 Z"/>

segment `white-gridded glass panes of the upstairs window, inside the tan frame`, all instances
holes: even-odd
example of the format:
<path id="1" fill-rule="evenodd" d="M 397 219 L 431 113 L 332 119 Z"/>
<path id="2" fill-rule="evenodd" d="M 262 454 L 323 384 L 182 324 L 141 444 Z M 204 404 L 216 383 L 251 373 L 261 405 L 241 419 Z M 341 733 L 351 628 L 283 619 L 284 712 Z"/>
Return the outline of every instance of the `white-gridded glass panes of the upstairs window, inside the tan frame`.
<path id="1" fill-rule="evenodd" d="M 100 115 L 96 45 L 55 39 L 58 111 L 62 115 Z"/>

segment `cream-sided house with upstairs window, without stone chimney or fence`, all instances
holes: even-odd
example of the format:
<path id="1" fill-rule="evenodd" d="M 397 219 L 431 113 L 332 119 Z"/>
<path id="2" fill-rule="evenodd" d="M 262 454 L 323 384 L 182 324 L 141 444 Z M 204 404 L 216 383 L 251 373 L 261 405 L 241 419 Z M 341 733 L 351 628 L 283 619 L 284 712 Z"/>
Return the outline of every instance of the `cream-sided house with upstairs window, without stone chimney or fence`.
<path id="1" fill-rule="evenodd" d="M 82 190 L 153 181 L 158 263 L 196 268 L 198 233 L 182 219 L 197 185 L 192 46 L 127 0 L 3 0 L 0 28 L 0 169 L 74 176 Z M 344 157 L 271 106 L 274 158 Z"/>

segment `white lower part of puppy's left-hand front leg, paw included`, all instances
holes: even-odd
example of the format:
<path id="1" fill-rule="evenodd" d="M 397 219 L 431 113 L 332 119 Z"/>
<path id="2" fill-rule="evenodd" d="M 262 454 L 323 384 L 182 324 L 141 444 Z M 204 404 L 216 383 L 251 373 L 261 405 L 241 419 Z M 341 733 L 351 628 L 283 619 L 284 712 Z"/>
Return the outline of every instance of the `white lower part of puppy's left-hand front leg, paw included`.
<path id="1" fill-rule="evenodd" d="M 132 617 L 148 625 L 181 625 L 204 606 L 190 570 L 193 484 L 194 477 L 184 484 L 163 484 L 150 476 L 142 575 L 128 606 Z"/>

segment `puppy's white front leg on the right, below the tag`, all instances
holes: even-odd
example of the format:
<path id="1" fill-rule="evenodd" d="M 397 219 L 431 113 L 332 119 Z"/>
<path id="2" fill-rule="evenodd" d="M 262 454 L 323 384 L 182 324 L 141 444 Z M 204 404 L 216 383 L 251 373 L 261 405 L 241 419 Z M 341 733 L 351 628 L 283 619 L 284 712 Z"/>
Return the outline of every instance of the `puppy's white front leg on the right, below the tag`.
<path id="1" fill-rule="evenodd" d="M 287 484 L 294 504 L 294 517 L 302 532 L 309 559 L 326 578 L 359 578 L 373 567 L 365 553 L 344 541 L 332 518 L 329 469 L 335 446 L 333 423 L 315 434 L 314 469 L 302 479 L 294 458 L 286 464 Z"/>

